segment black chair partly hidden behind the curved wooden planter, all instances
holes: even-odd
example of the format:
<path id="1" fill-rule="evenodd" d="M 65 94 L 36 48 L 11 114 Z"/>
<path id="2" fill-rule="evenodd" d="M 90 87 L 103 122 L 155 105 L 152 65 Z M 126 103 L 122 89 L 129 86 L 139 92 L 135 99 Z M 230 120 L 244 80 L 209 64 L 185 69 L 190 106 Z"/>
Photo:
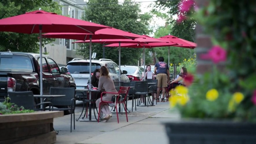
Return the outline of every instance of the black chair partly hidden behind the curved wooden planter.
<path id="1" fill-rule="evenodd" d="M 10 102 L 16 104 L 17 106 L 23 106 L 25 109 L 29 110 L 53 110 L 51 102 L 43 102 L 36 104 L 35 97 L 32 91 L 22 91 L 22 92 L 8 92 L 10 97 Z M 49 104 L 49 108 L 45 108 L 45 105 Z M 43 105 L 43 109 L 36 108 L 36 106 Z"/>

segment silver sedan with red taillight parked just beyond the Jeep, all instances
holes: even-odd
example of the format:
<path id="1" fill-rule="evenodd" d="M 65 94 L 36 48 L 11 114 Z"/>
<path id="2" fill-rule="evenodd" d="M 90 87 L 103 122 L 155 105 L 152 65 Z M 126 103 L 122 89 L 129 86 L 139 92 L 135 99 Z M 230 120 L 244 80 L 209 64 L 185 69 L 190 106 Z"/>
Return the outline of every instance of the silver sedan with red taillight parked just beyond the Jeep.
<path id="1" fill-rule="evenodd" d="M 144 69 L 136 65 L 121 65 L 121 69 L 127 71 L 130 81 L 141 81 Z"/>

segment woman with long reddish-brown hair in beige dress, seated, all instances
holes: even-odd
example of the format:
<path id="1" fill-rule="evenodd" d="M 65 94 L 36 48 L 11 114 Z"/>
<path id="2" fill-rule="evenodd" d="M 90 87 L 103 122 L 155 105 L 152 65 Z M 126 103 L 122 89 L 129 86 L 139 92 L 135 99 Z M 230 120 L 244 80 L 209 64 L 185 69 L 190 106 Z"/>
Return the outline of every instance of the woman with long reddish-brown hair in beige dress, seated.
<path id="1" fill-rule="evenodd" d="M 113 80 L 109 76 L 109 72 L 107 67 L 102 66 L 100 68 L 100 79 L 99 79 L 99 90 L 102 91 L 102 89 L 105 89 L 106 92 L 113 92 L 117 93 L 117 90 L 115 89 L 115 84 Z M 112 96 L 114 94 L 106 94 L 102 97 L 103 101 L 111 101 Z M 97 99 L 96 101 L 96 107 L 99 108 L 101 102 L 101 98 Z M 103 120 L 104 122 L 107 122 L 110 117 L 112 117 L 112 113 L 110 112 L 110 109 L 107 104 L 104 104 L 101 106 L 101 111 L 106 115 Z"/>

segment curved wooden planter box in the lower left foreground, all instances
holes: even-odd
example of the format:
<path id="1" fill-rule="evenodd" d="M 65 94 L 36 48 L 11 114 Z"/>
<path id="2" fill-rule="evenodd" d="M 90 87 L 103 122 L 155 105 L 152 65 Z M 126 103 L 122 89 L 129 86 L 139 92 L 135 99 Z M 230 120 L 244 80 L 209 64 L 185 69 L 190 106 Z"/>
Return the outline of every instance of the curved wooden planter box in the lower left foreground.
<path id="1" fill-rule="evenodd" d="M 63 111 L 41 111 L 0 115 L 0 143 L 51 144 L 56 142 L 53 118 Z"/>

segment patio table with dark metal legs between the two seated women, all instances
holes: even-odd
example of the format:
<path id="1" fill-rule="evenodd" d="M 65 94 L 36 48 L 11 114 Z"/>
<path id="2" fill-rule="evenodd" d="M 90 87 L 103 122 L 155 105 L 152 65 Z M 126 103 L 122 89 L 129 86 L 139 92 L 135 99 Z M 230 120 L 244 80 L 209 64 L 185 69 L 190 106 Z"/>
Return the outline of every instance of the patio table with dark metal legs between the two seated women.
<path id="1" fill-rule="evenodd" d="M 84 112 L 84 102 L 91 102 L 91 101 L 94 101 L 95 99 L 88 99 L 88 100 L 85 100 L 85 93 L 86 92 L 100 92 L 100 90 L 89 90 L 89 89 L 76 89 L 75 92 L 80 92 L 83 94 L 83 109 L 82 109 L 82 112 L 81 112 L 81 115 L 79 116 L 79 121 L 97 121 L 97 118 L 96 118 L 96 115 L 95 115 L 95 110 L 93 109 L 93 112 L 94 112 L 94 116 L 95 116 L 95 120 L 92 120 L 91 119 L 91 105 L 89 105 L 89 119 L 84 119 L 84 117 L 82 117 L 82 119 L 80 119 L 80 117 L 82 116 L 83 112 Z M 85 111 L 86 113 L 86 111 Z M 84 116 L 85 116 L 85 113 L 84 113 Z M 78 121 L 78 119 L 75 119 L 76 121 Z"/>

